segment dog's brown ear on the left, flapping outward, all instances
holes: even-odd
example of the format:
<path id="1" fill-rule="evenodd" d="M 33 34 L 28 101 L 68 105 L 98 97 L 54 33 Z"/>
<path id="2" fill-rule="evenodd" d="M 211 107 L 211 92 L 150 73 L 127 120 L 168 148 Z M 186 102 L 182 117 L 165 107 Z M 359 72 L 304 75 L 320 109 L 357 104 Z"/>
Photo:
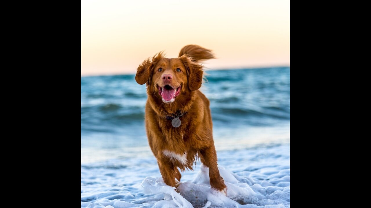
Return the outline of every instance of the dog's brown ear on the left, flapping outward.
<path id="1" fill-rule="evenodd" d="M 152 68 L 157 64 L 157 62 L 162 58 L 164 54 L 162 51 L 151 58 L 147 58 L 143 61 L 141 65 L 139 65 L 137 69 L 137 74 L 135 75 L 135 81 L 138 84 L 145 84 L 150 85 L 150 77 L 152 74 Z"/>

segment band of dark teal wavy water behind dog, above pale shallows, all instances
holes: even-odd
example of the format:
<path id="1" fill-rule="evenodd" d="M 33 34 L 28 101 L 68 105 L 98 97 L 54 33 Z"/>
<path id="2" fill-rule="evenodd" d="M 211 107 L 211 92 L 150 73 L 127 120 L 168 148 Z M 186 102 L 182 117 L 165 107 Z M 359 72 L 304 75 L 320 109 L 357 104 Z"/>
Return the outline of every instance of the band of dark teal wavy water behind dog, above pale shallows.
<path id="1" fill-rule="evenodd" d="M 290 119 L 290 69 L 207 71 L 202 92 L 210 100 L 214 128 L 273 125 Z M 145 87 L 135 75 L 81 78 L 83 133 L 144 128 Z M 104 127 L 104 128 L 102 128 Z M 96 130 L 94 130 L 96 128 Z M 111 130 L 109 130 L 111 128 Z"/>

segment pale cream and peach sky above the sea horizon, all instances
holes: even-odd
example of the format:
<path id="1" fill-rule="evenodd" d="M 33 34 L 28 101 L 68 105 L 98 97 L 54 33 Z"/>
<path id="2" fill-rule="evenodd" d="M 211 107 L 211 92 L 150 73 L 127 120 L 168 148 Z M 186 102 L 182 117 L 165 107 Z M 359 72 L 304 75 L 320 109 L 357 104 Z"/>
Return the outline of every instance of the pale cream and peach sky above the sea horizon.
<path id="1" fill-rule="evenodd" d="M 197 44 L 208 69 L 290 65 L 289 0 L 82 0 L 81 76 L 135 74 Z"/>

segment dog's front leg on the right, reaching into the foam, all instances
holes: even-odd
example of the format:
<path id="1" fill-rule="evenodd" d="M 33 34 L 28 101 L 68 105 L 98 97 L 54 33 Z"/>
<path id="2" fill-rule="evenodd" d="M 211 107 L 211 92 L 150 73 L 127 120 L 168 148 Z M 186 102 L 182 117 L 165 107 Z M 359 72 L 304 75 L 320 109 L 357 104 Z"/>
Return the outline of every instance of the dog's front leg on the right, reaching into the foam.
<path id="1" fill-rule="evenodd" d="M 216 150 L 214 145 L 209 148 L 200 151 L 201 153 L 201 162 L 209 167 L 209 177 L 211 188 L 217 189 L 221 192 L 224 192 L 224 195 L 227 194 L 227 187 L 224 184 L 223 178 L 220 176 Z"/>

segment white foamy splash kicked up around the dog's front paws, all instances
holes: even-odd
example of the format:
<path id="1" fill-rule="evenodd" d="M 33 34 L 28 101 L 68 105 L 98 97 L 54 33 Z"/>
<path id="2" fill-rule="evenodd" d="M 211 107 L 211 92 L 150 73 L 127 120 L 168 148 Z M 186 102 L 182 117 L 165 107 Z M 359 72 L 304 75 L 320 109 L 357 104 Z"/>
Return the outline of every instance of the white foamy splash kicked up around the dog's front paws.
<path id="1" fill-rule="evenodd" d="M 156 180 L 147 177 L 143 181 L 142 186 L 148 194 L 158 194 L 160 192 L 171 194 L 173 203 L 168 201 L 170 198 L 165 197 L 164 200 L 167 202 L 160 202 L 161 205 L 175 204 L 177 205 L 175 207 L 192 207 L 192 204 L 197 205 L 197 207 L 202 205 L 205 207 L 259 207 L 247 203 L 249 201 L 258 201 L 265 198 L 261 193 L 262 189 L 264 189 L 261 185 L 255 184 L 253 186 L 254 190 L 246 183 L 238 181 L 233 173 L 225 170 L 223 167 L 219 167 L 219 171 L 228 188 L 227 196 L 224 196 L 223 192 L 210 188 L 209 168 L 205 165 L 201 165 L 201 170 L 198 172 L 193 182 L 187 181 L 179 185 L 178 189 L 180 189 L 181 195 L 174 190 L 175 188 L 171 188 L 163 182 L 159 182 L 159 179 Z M 280 192 L 283 193 L 283 191 Z"/>

